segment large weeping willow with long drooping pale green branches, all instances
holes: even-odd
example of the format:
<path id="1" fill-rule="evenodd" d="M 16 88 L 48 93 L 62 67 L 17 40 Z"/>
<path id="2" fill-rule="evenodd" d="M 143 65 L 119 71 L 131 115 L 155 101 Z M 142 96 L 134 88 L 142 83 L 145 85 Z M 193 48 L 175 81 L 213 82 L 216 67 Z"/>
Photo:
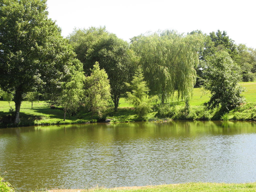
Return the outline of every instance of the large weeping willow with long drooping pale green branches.
<path id="1" fill-rule="evenodd" d="M 203 47 L 203 35 L 184 36 L 170 30 L 131 39 L 131 48 L 140 56 L 149 95 L 158 95 L 164 104 L 177 90 L 177 99 L 183 99 L 186 107 L 196 82 L 198 52 Z"/>

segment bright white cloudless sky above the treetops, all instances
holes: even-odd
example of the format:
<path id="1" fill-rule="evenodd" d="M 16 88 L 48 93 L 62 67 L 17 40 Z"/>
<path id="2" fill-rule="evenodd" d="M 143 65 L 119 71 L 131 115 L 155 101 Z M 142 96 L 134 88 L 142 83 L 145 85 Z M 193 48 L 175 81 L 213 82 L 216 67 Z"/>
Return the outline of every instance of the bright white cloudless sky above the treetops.
<path id="1" fill-rule="evenodd" d="M 256 1 L 254 0 L 48 0 L 49 17 L 56 20 L 62 35 L 74 28 L 106 26 L 119 38 L 129 39 L 174 29 L 179 33 L 201 30 L 209 34 L 227 31 L 236 44 L 256 48 Z"/>

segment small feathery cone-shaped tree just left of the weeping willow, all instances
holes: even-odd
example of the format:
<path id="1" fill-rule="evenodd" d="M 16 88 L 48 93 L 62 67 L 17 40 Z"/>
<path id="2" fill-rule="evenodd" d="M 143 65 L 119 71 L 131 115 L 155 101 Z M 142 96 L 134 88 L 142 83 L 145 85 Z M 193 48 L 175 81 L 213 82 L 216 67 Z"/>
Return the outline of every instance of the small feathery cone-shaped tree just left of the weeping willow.
<path id="1" fill-rule="evenodd" d="M 156 96 L 148 98 L 149 89 L 144 81 L 141 66 L 138 67 L 131 84 L 126 84 L 132 89 L 132 92 L 127 92 L 127 101 L 134 106 L 138 117 L 144 118 L 152 110 L 152 102 L 156 101 Z"/>

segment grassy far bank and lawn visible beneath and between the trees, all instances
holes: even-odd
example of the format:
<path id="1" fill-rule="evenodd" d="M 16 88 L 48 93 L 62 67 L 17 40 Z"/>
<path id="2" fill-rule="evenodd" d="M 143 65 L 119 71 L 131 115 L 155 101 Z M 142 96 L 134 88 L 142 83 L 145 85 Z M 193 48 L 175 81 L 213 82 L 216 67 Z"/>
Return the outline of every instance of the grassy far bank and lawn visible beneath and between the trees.
<path id="1" fill-rule="evenodd" d="M 238 107 L 237 109 L 229 113 L 229 119 L 232 120 L 256 120 L 256 82 L 241 82 L 246 87 L 247 91 L 244 92 L 244 96 L 247 99 L 247 103 Z M 174 119 L 174 120 L 218 120 L 220 115 L 218 109 L 206 111 L 202 106 L 202 103 L 208 101 L 209 95 L 203 95 L 200 88 L 194 88 L 193 98 L 190 100 L 191 110 L 189 114 L 183 112 L 183 101 L 174 101 L 176 103 L 175 109 L 166 109 L 163 114 L 157 113 L 159 110 L 157 107 L 154 111 L 147 116 L 147 120 L 158 120 L 162 118 Z M 12 108 L 15 108 L 14 102 L 10 103 Z M 6 117 L 9 112 L 9 103 L 7 101 L 0 101 L 0 117 Z M 91 117 L 91 113 L 80 110 L 74 116 L 66 116 L 66 121 L 63 121 L 63 111 L 61 108 L 50 109 L 45 105 L 44 101 L 34 102 L 33 109 L 31 109 L 31 103 L 22 102 L 20 109 L 21 123 L 20 126 L 25 125 L 49 125 L 49 124 L 70 124 L 70 123 L 87 123 L 102 121 L 97 116 Z M 136 113 L 132 106 L 125 101 L 124 98 L 120 98 L 120 105 L 118 112 L 113 112 L 112 109 L 108 110 L 104 118 L 112 119 L 112 122 L 133 122 L 141 121 L 137 119 Z"/>

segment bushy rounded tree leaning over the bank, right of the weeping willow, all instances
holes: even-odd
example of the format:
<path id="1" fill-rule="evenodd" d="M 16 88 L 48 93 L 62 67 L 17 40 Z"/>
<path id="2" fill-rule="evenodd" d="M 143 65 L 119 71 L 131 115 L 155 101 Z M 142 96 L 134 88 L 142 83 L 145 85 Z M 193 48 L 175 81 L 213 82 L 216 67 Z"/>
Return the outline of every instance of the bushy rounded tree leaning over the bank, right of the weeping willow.
<path id="1" fill-rule="evenodd" d="M 208 108 L 221 106 L 224 112 L 228 112 L 244 103 L 241 96 L 244 88 L 238 83 L 240 75 L 228 52 L 218 51 L 208 56 L 203 77 L 202 88 L 211 93 L 210 100 L 205 103 Z"/>

